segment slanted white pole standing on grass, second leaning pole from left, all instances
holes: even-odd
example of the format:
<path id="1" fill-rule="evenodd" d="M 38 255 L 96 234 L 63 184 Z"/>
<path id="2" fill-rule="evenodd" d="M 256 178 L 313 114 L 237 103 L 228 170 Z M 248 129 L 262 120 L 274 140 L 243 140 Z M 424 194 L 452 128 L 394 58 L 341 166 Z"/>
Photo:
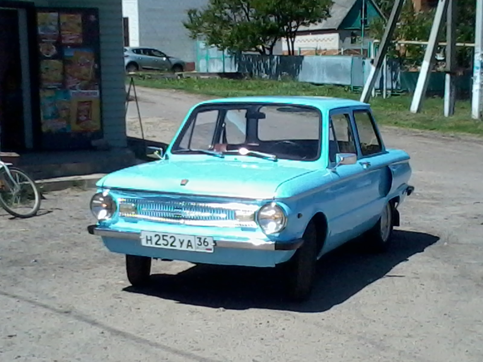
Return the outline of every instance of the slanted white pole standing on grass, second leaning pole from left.
<path id="1" fill-rule="evenodd" d="M 449 0 L 439 0 L 438 7 L 436 8 L 436 14 L 434 15 L 431 33 L 429 34 L 423 64 L 421 65 L 421 70 L 419 72 L 418 83 L 416 84 L 416 89 L 414 90 L 414 95 L 412 97 L 410 108 L 412 113 L 421 111 L 421 106 L 423 104 L 423 99 L 426 94 L 427 84 L 429 81 L 429 74 L 431 72 L 431 65 L 436 53 L 436 46 L 438 45 L 438 35 L 440 33 L 444 17 L 446 16 L 448 2 Z"/>

